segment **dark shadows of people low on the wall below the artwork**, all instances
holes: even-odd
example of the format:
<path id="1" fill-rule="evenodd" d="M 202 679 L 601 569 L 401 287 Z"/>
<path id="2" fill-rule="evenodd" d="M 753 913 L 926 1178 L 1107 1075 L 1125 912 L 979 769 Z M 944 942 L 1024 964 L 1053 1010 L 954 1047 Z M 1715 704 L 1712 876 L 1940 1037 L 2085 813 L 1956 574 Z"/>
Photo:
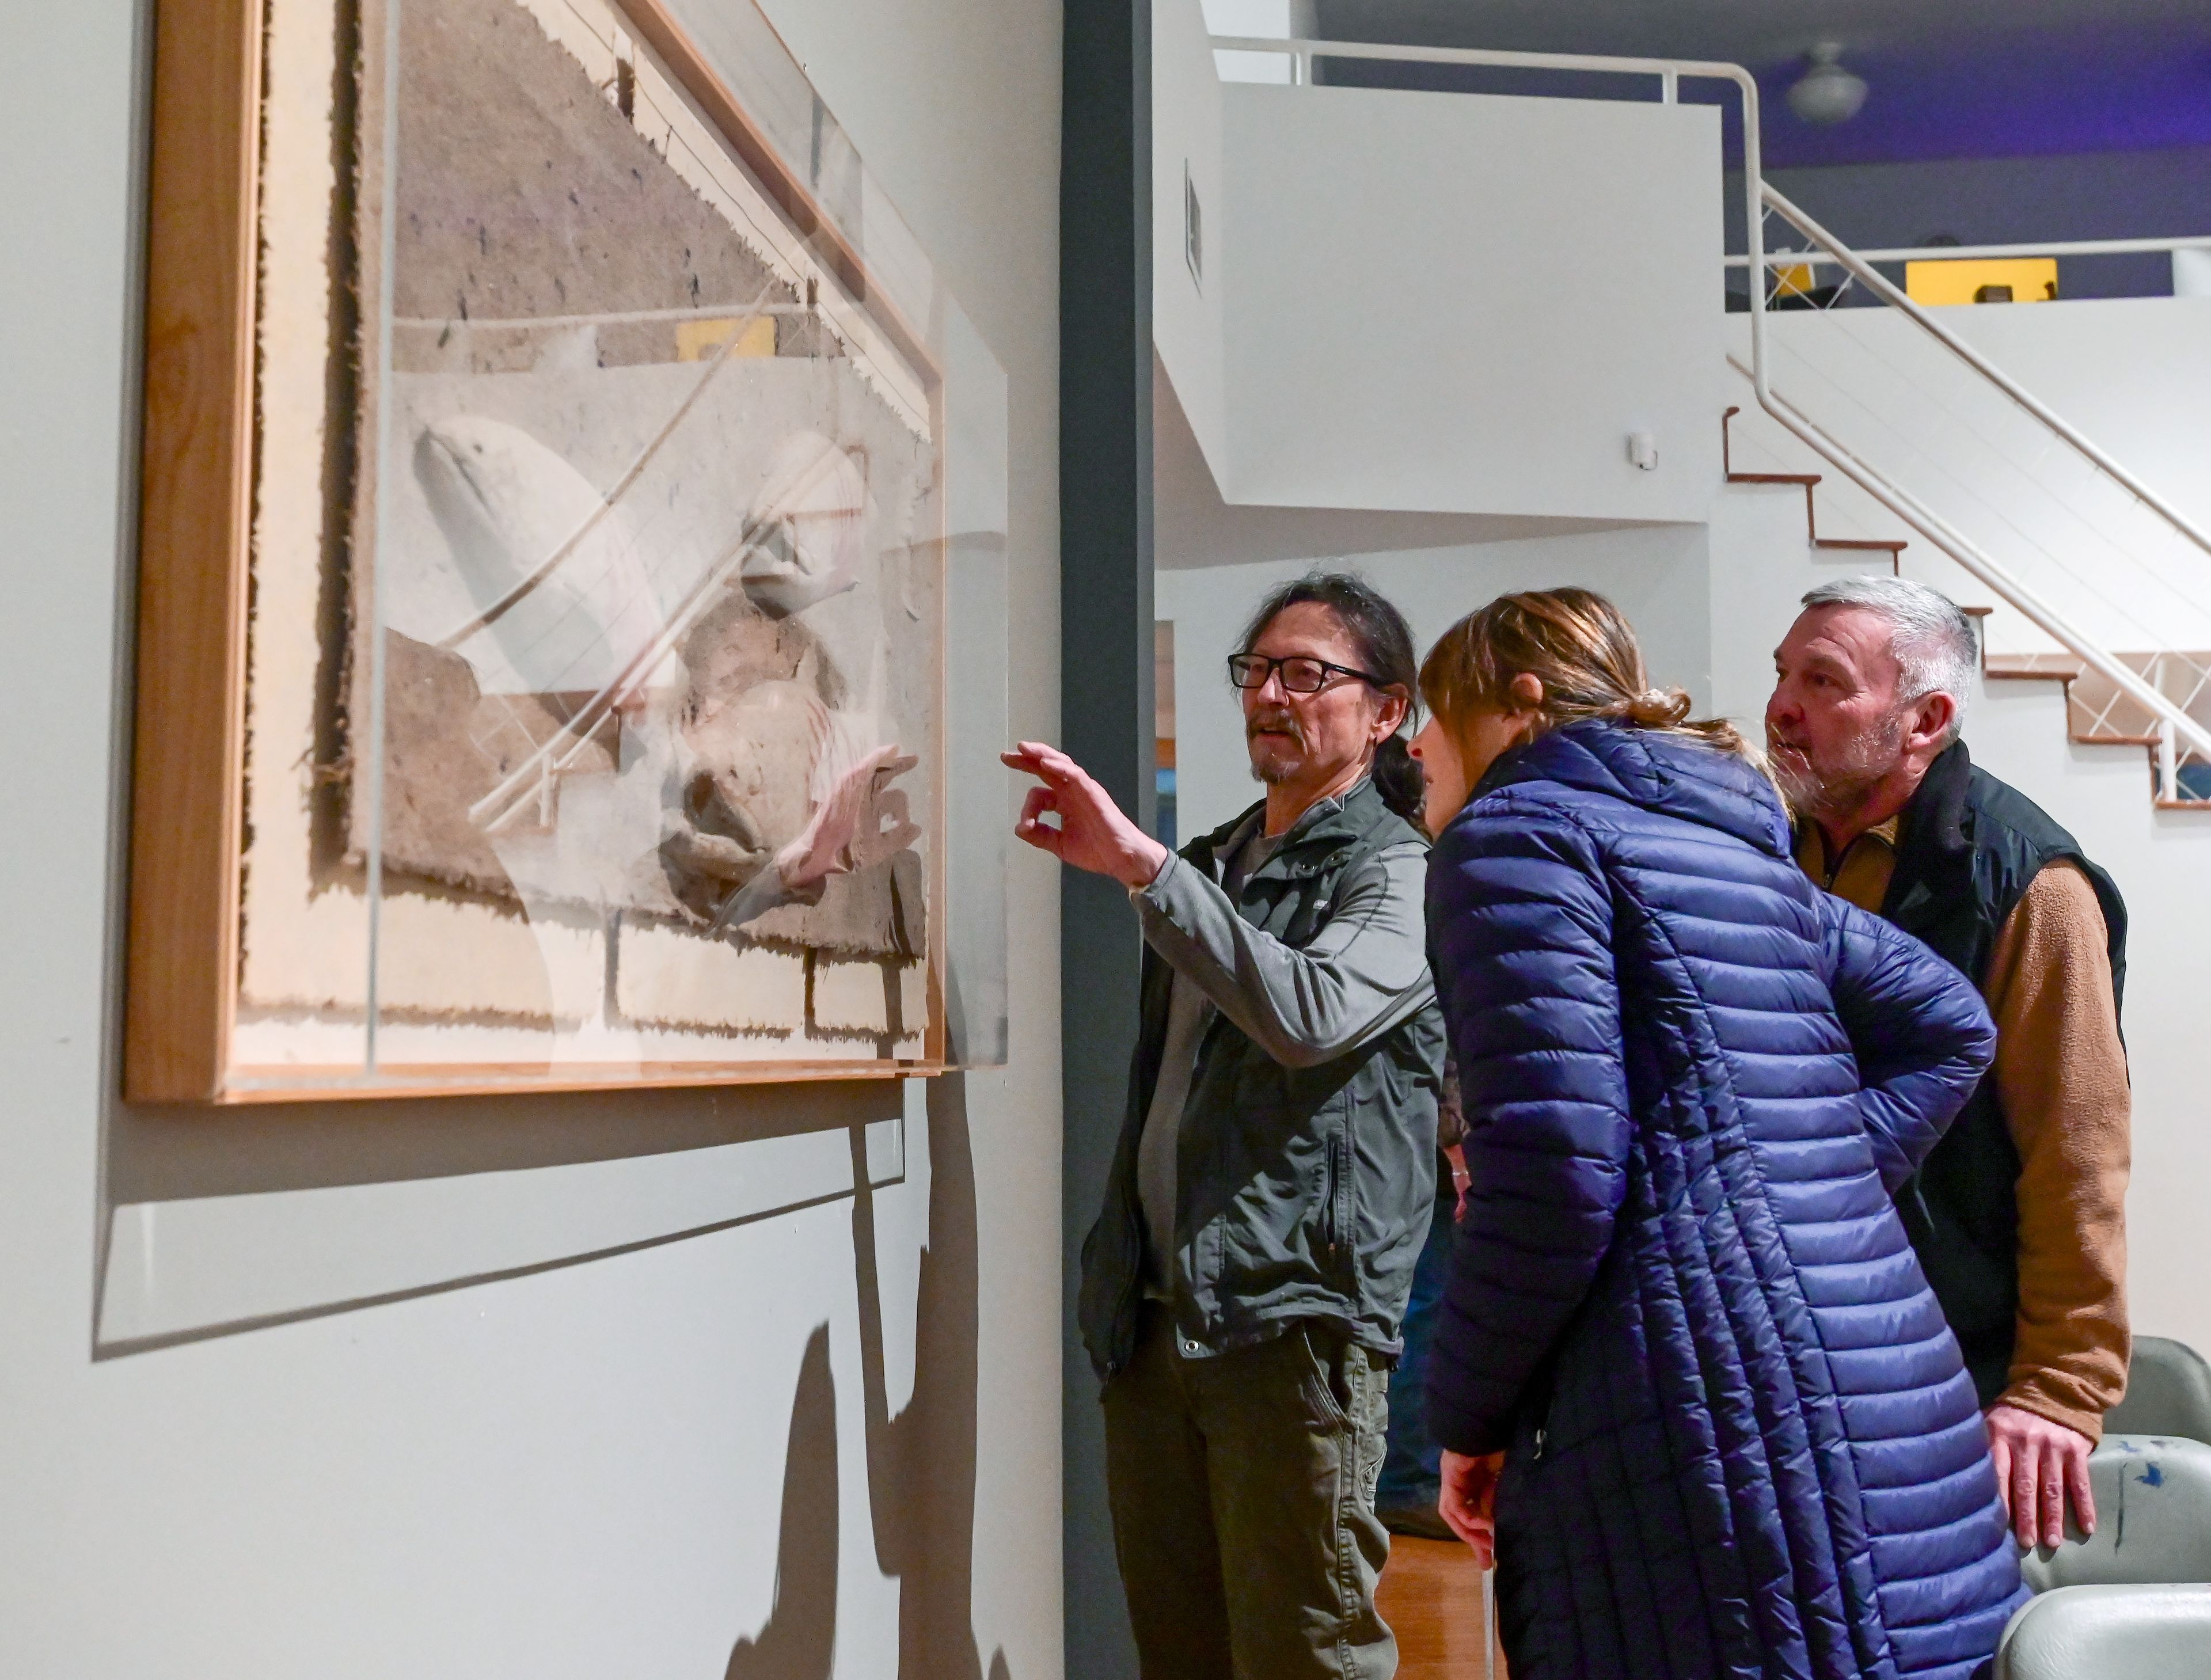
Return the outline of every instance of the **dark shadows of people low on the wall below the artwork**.
<path id="1" fill-rule="evenodd" d="M 898 1581 L 900 1680 L 984 1680 L 975 1649 L 975 1156 L 966 1081 L 929 1083 L 929 1247 L 915 1291 L 913 1397 L 891 1415 L 882 1371 L 876 1191 L 851 1134 L 851 1247 L 876 1567 Z M 836 1647 L 838 1472 L 829 1329 L 807 1342 L 792 1401 L 783 1534 L 767 1625 L 730 1651 L 725 1680 L 825 1680 Z M 1010 1680 L 1006 1653 L 988 1680 Z"/>

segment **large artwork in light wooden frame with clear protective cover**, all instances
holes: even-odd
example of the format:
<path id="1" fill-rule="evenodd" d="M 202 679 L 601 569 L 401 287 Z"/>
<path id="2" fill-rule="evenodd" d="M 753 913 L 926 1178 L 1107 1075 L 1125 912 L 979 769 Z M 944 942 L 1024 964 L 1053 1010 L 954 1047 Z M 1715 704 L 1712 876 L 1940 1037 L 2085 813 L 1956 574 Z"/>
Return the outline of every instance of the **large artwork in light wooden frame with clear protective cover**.
<path id="1" fill-rule="evenodd" d="M 1004 378 L 714 29 L 159 7 L 128 1096 L 1002 1054 Z"/>

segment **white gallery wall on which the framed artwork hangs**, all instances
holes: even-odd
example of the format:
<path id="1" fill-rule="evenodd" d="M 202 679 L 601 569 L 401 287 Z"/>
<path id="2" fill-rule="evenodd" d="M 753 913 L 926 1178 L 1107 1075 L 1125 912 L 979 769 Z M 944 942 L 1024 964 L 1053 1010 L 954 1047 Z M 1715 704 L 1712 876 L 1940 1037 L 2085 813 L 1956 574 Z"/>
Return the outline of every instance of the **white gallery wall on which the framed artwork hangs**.
<path id="1" fill-rule="evenodd" d="M 1048 736 L 1059 7 L 769 13 L 1006 369 Z M 113 1101 L 146 24 L 0 69 L 0 1673 L 1057 1676 L 1048 860 L 929 1092 Z"/>

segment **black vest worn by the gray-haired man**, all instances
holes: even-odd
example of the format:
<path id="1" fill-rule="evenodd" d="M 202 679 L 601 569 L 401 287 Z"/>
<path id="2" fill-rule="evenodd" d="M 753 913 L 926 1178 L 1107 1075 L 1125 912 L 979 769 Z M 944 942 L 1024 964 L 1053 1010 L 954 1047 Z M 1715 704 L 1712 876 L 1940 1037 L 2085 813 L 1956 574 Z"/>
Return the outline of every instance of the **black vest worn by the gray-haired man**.
<path id="1" fill-rule="evenodd" d="M 2019 789 L 1977 769 L 1966 743 L 1937 758 L 1904 807 L 1897 871 L 1882 915 L 1988 988 L 2005 917 L 2043 867 L 2078 864 L 2096 889 L 2112 953 L 2112 995 L 2127 981 L 2127 904 L 2081 844 Z M 1988 1074 L 1897 1209 L 1919 1264 L 1990 1406 L 2003 1393 L 2019 1326 L 2019 1149 Z"/>

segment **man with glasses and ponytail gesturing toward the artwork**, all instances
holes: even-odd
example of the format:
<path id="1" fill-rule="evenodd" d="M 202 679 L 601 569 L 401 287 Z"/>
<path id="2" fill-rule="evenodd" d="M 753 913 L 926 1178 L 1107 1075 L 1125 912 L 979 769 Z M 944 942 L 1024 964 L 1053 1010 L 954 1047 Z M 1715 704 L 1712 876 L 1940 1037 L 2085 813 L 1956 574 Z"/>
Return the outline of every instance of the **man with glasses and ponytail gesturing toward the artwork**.
<path id="1" fill-rule="evenodd" d="M 1444 1063 L 1415 674 L 1360 579 L 1276 590 L 1229 659 L 1267 794 L 1181 855 L 1066 754 L 1006 754 L 1041 783 L 1015 833 L 1128 886 L 1145 937 L 1081 1287 L 1145 1680 L 1397 1669 L 1373 1492 Z"/>

